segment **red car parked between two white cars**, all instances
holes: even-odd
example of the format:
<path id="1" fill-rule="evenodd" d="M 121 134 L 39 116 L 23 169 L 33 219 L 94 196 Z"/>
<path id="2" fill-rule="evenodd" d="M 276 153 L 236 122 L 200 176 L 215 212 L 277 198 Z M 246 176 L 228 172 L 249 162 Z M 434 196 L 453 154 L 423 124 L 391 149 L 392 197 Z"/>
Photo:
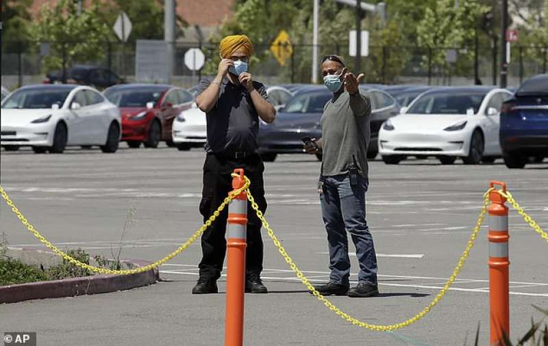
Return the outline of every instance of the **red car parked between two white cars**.
<path id="1" fill-rule="evenodd" d="M 147 148 L 156 148 L 160 141 L 173 146 L 173 120 L 194 102 L 190 92 L 173 85 L 162 84 L 114 85 L 103 94 L 120 108 L 120 141 L 127 142 L 130 148 L 138 148 L 141 143 Z"/>

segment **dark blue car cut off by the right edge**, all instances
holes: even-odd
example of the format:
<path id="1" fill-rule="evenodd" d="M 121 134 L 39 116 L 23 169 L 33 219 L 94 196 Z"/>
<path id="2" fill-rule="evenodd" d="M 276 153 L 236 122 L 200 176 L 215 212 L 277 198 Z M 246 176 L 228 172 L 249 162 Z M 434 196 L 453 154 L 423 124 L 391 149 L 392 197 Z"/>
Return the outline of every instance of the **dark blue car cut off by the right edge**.
<path id="1" fill-rule="evenodd" d="M 548 74 L 525 81 L 502 105 L 499 139 L 508 168 L 548 156 Z"/>

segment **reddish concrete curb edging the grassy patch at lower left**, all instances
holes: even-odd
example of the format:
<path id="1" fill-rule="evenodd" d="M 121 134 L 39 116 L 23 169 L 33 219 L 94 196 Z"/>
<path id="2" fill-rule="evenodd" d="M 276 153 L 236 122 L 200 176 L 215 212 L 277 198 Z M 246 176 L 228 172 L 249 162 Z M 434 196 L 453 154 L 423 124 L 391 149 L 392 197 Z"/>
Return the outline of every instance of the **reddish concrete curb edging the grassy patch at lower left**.
<path id="1" fill-rule="evenodd" d="M 136 267 L 144 267 L 149 264 L 146 261 L 140 260 L 127 260 L 123 262 L 132 263 Z M 158 280 L 160 280 L 158 268 L 153 268 L 137 274 L 99 274 L 84 276 L 82 278 L 12 284 L 0 287 L 0 304 L 123 291 L 147 286 Z"/>

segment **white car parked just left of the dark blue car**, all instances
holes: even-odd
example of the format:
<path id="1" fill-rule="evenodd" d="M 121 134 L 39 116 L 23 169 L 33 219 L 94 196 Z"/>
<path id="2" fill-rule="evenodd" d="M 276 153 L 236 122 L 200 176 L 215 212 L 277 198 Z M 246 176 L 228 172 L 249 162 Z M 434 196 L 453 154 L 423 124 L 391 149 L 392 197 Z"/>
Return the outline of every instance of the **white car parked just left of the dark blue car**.
<path id="1" fill-rule="evenodd" d="M 450 165 L 493 162 L 501 156 L 499 116 L 512 98 L 506 89 L 436 88 L 424 92 L 379 131 L 379 153 L 387 164 L 408 156 L 437 157 Z"/>

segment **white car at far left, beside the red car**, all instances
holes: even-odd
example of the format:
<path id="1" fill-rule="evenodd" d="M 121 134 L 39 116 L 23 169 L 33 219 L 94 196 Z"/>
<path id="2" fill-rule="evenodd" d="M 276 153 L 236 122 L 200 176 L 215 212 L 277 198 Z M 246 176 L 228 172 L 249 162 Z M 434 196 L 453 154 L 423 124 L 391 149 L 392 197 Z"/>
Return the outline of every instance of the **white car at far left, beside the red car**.
<path id="1" fill-rule="evenodd" d="M 81 85 L 29 85 L 1 104 L 0 145 L 32 146 L 34 152 L 63 152 L 66 146 L 100 146 L 115 152 L 120 110 L 97 90 Z"/>

